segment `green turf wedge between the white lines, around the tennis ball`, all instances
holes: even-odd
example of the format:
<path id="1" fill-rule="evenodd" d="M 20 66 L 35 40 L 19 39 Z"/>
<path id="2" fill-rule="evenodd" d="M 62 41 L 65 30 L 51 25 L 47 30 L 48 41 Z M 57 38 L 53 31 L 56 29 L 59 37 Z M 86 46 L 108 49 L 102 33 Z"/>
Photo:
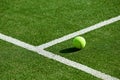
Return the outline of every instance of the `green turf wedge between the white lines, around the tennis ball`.
<path id="1" fill-rule="evenodd" d="M 46 50 L 120 78 L 120 21 L 84 34 L 87 45 L 75 50 L 72 39 Z"/>

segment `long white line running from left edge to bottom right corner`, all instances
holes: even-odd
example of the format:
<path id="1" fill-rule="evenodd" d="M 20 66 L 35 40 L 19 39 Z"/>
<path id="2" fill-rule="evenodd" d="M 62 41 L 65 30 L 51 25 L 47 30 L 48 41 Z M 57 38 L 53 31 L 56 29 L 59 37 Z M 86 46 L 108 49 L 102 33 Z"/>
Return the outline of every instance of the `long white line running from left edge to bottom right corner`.
<path id="1" fill-rule="evenodd" d="M 116 77 L 112 77 L 112 76 L 110 76 L 108 74 L 105 74 L 105 73 L 102 73 L 100 71 L 94 70 L 94 69 L 92 69 L 90 67 L 87 67 L 87 66 L 85 66 L 83 64 L 71 61 L 69 59 L 61 57 L 59 55 L 55 55 L 55 54 L 53 54 L 51 52 L 48 52 L 48 51 L 45 51 L 43 49 L 37 49 L 36 46 L 27 44 L 27 43 L 22 42 L 20 40 L 14 39 L 14 38 L 12 38 L 10 36 L 6 36 L 6 35 L 0 33 L 0 39 L 2 39 L 4 41 L 7 41 L 9 43 L 15 44 L 17 46 L 20 46 L 22 48 L 25 48 L 27 50 L 37 52 L 38 54 L 43 55 L 44 57 L 56 60 L 56 61 L 58 61 L 60 63 L 66 64 L 66 65 L 71 66 L 73 68 L 76 68 L 78 70 L 84 71 L 84 72 L 86 72 L 88 74 L 91 74 L 91 75 L 97 77 L 97 78 L 100 78 L 100 79 L 103 79 L 103 80 L 119 80 Z"/>

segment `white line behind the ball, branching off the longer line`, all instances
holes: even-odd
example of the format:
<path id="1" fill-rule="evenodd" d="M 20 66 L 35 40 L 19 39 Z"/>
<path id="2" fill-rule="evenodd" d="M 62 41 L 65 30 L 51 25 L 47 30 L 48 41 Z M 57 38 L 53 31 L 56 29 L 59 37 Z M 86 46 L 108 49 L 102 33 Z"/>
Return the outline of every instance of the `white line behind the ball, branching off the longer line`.
<path id="1" fill-rule="evenodd" d="M 85 29 L 82 29 L 82 30 L 76 31 L 74 33 L 68 34 L 68 35 L 63 36 L 61 38 L 55 39 L 55 40 L 50 41 L 48 43 L 39 45 L 37 47 L 38 47 L 38 49 L 45 49 L 45 48 L 48 48 L 48 47 L 53 46 L 55 44 L 61 43 L 61 42 L 66 41 L 66 40 L 69 40 L 69 39 L 71 39 L 71 38 L 73 38 L 75 36 L 78 36 L 78 35 L 81 35 L 81 34 L 85 34 L 87 32 L 90 32 L 92 30 L 101 28 L 101 27 L 103 27 L 105 25 L 111 24 L 111 23 L 119 21 L 119 20 L 120 20 L 120 16 L 117 16 L 117 17 L 111 18 L 109 20 L 106 20 L 106 21 L 100 22 L 98 24 L 95 24 L 93 26 L 87 27 Z"/>

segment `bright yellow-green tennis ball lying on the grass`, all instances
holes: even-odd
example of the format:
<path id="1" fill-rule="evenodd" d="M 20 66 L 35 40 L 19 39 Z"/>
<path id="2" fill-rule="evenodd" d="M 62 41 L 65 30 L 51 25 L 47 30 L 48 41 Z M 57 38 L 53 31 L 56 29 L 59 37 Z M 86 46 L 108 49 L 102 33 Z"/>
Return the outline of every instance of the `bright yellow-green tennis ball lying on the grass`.
<path id="1" fill-rule="evenodd" d="M 85 47 L 86 45 L 86 41 L 85 38 L 81 37 L 81 36 L 77 36 L 73 39 L 73 45 L 78 48 L 78 49 L 82 49 Z"/>

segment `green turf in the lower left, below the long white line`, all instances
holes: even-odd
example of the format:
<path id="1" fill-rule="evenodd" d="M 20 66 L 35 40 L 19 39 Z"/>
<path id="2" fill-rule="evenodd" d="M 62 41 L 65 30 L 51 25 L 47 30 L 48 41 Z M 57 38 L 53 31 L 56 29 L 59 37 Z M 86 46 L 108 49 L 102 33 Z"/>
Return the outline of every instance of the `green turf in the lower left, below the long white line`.
<path id="1" fill-rule="evenodd" d="M 0 80 L 100 80 L 0 40 Z"/>

